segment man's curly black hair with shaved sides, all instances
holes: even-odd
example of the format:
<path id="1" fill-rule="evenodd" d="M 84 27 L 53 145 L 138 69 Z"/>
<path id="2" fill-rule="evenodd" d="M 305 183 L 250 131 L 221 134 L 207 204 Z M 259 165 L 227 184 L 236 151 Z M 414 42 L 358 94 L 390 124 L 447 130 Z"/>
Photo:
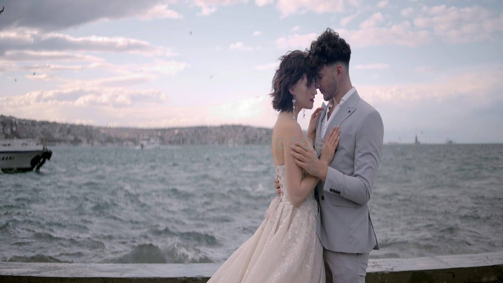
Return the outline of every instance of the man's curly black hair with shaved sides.
<path id="1" fill-rule="evenodd" d="M 311 65 L 317 70 L 321 69 L 323 65 L 335 62 L 343 62 L 346 67 L 349 67 L 351 48 L 346 40 L 330 28 L 327 28 L 317 40 L 311 42 L 311 48 L 308 52 Z"/>

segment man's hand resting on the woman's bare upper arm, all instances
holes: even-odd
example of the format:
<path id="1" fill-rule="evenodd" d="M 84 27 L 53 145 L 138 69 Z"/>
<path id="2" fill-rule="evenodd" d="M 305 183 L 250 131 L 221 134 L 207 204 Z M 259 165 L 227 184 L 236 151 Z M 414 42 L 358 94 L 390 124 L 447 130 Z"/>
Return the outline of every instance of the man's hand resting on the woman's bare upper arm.
<path id="1" fill-rule="evenodd" d="M 290 147 L 290 154 L 295 163 L 306 170 L 309 175 L 325 180 L 328 166 L 318 159 L 316 152 L 312 147 L 303 147 L 300 142 L 295 142 L 295 146 Z"/>

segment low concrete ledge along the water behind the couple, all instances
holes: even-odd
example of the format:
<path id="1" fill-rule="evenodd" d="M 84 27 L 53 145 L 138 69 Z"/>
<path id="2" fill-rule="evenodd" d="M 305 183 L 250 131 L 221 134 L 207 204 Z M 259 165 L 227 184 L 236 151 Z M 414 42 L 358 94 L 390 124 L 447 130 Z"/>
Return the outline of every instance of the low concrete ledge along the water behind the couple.
<path id="1" fill-rule="evenodd" d="M 0 282 L 206 282 L 219 266 L 220 264 L 216 263 L 0 262 Z M 366 282 L 503 282 L 503 252 L 420 258 L 370 259 Z"/>

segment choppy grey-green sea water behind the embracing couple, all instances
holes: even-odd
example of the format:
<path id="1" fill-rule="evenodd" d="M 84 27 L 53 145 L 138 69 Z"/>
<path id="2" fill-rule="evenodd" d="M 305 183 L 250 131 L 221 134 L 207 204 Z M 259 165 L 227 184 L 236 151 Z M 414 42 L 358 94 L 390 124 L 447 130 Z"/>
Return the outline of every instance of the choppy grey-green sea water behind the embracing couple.
<path id="1" fill-rule="evenodd" d="M 0 173 L 0 260 L 223 262 L 275 197 L 268 146 L 52 147 Z M 381 250 L 503 250 L 503 145 L 385 145 L 370 200 Z"/>

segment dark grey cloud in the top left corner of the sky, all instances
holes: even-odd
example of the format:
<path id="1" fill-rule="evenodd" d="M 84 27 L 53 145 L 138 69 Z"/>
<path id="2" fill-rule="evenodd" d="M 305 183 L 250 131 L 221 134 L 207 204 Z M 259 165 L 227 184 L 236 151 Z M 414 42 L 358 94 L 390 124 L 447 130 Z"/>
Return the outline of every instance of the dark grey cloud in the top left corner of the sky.
<path id="1" fill-rule="evenodd" d="M 122 1 L 88 0 L 69 1 L 45 0 L 6 0 L 5 12 L 2 13 L 0 30 L 26 27 L 40 31 L 57 31 L 103 20 L 125 18 L 180 19 L 175 11 L 166 5 L 159 5 L 159 0 Z"/>

